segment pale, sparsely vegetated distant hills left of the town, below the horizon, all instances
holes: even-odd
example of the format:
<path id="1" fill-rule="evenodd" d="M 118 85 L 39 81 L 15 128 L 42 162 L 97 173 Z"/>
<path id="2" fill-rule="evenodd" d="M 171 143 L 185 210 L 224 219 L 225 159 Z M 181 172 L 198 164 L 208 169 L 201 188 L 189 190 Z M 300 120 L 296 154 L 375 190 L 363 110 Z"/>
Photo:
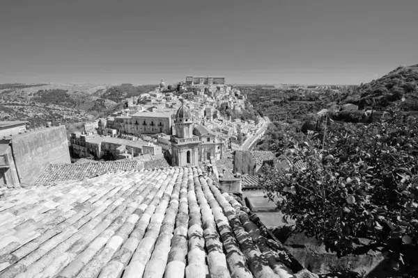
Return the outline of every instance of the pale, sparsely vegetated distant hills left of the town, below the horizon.
<path id="1" fill-rule="evenodd" d="M 0 111 L 3 112 L 0 113 L 0 120 L 28 120 L 33 126 L 42 125 L 42 122 L 49 119 L 63 123 L 91 120 L 108 115 L 111 111 L 121 108 L 126 98 L 139 96 L 156 86 L 0 84 Z M 57 111 L 61 111 L 63 115 L 58 115 Z M 36 113 L 40 113 L 40 116 Z"/>

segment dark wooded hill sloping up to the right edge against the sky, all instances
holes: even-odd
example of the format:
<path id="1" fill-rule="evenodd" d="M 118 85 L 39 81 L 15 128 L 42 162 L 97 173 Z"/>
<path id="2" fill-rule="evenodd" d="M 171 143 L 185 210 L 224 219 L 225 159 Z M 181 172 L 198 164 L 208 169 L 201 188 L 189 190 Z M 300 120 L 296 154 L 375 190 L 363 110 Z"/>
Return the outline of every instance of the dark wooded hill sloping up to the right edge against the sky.
<path id="1" fill-rule="evenodd" d="M 361 84 L 343 103 L 375 109 L 399 105 L 405 111 L 418 111 L 418 65 L 397 67 L 380 79 Z"/>

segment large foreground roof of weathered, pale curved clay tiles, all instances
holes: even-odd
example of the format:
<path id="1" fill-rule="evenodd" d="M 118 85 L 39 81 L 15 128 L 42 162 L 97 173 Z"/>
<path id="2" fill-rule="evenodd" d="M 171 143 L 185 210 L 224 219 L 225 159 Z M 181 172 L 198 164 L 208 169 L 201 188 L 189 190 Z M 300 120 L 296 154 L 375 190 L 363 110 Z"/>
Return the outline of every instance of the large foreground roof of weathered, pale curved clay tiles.
<path id="1" fill-rule="evenodd" d="M 200 167 L 15 188 L 0 199 L 0 277 L 313 277 L 257 224 Z"/>

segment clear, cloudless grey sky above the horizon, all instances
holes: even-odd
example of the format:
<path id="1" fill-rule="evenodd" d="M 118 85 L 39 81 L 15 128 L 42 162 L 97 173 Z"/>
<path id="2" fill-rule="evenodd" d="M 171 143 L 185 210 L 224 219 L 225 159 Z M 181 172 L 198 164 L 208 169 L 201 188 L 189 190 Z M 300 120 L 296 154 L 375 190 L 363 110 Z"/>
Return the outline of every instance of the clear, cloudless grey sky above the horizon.
<path id="1" fill-rule="evenodd" d="M 358 84 L 418 64 L 418 0 L 13 0 L 0 83 Z"/>

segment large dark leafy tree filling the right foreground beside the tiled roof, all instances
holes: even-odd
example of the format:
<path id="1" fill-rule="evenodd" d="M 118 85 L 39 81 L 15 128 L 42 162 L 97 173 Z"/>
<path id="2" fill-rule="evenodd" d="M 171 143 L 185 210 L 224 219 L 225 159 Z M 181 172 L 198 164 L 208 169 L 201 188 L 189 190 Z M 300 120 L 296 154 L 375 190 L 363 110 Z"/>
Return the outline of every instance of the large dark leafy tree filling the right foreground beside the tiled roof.
<path id="1" fill-rule="evenodd" d="M 266 169 L 261 184 L 297 231 L 338 256 L 380 251 L 417 277 L 417 135 L 415 118 L 392 111 L 355 131 L 330 128 L 325 150 L 315 134 L 287 138 L 284 153 L 299 166 Z"/>

